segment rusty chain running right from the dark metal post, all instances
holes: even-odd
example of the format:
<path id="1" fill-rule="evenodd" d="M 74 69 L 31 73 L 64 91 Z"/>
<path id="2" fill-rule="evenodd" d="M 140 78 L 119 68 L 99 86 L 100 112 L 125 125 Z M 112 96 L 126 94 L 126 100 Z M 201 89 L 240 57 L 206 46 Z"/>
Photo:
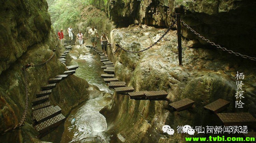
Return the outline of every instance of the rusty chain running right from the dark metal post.
<path id="1" fill-rule="evenodd" d="M 221 47 L 219 46 L 218 44 L 215 44 L 214 42 L 211 42 L 210 40 L 206 39 L 205 37 L 201 36 L 199 33 L 197 33 L 195 30 L 193 30 L 191 27 L 189 27 L 184 21 L 181 20 L 181 23 L 186 26 L 186 28 L 188 28 L 191 32 L 193 32 L 194 34 L 196 34 L 198 37 L 200 37 L 201 39 L 203 39 L 204 41 L 206 41 L 207 43 L 211 44 L 212 46 L 215 46 L 219 49 L 222 49 L 223 51 L 227 51 L 228 53 L 230 54 L 234 54 L 236 56 L 241 56 L 243 58 L 248 58 L 248 59 L 251 59 L 251 60 L 254 60 L 256 61 L 256 58 L 255 57 L 250 57 L 250 56 L 247 56 L 247 55 L 242 55 L 240 53 L 236 53 L 236 52 L 233 52 L 232 50 L 228 50 L 224 47 Z"/>

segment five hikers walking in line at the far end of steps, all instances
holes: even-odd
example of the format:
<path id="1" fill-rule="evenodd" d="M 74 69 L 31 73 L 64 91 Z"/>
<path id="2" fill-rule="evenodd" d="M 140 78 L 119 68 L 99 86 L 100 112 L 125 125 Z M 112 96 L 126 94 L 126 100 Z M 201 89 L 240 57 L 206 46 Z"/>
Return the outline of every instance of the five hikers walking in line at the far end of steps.
<path id="1" fill-rule="evenodd" d="M 68 28 L 67 32 L 69 34 L 69 40 L 73 40 L 73 33 L 74 32 L 73 32 L 72 26 L 70 26 Z M 93 47 L 95 48 L 96 44 L 97 44 L 97 40 L 99 38 L 97 29 L 95 29 L 95 27 L 92 26 L 91 29 L 89 29 L 88 34 L 90 34 L 91 43 L 93 44 Z M 79 33 L 76 35 L 76 37 L 79 40 L 79 44 L 80 44 L 80 47 L 81 47 L 82 44 L 83 44 L 84 35 L 81 33 L 81 31 L 79 31 Z M 59 38 L 60 43 L 64 44 L 63 29 L 60 29 L 60 31 L 58 32 L 58 38 Z M 109 43 L 109 39 L 108 39 L 108 37 L 106 36 L 105 33 L 103 33 L 102 36 L 100 37 L 100 41 L 101 41 L 102 51 L 105 54 L 105 56 L 107 56 L 106 47 L 107 47 L 107 44 Z"/>

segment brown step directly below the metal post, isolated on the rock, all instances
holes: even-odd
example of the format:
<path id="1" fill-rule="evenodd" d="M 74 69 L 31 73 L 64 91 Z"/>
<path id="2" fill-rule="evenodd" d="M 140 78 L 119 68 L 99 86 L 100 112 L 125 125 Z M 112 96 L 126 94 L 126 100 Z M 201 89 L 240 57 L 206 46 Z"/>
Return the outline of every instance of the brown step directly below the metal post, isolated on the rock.
<path id="1" fill-rule="evenodd" d="M 195 101 L 185 98 L 180 101 L 173 102 L 169 105 L 171 107 L 173 107 L 174 109 L 176 109 L 177 111 L 182 111 L 182 110 L 185 110 L 185 109 L 193 106 L 194 103 L 195 103 Z"/>

